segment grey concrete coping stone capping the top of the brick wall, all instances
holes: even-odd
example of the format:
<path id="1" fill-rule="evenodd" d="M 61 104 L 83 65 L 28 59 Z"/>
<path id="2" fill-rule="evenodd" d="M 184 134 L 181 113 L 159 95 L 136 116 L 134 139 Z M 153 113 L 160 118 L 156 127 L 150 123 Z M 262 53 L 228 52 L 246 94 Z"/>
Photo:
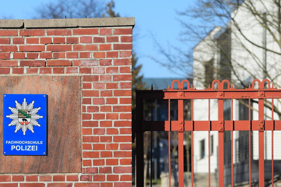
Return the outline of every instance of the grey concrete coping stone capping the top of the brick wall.
<path id="1" fill-rule="evenodd" d="M 135 26 L 134 17 L 74 18 L 74 19 L 14 19 L 0 20 L 0 28 L 60 28 L 60 27 L 106 27 Z"/>

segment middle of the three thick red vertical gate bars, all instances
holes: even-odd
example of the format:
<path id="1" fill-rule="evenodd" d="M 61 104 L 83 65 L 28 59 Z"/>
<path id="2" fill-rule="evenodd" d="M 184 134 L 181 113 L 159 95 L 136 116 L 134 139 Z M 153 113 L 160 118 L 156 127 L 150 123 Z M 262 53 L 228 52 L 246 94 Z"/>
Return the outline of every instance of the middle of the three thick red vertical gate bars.
<path id="1" fill-rule="evenodd" d="M 218 99 L 218 119 L 219 123 L 223 125 L 223 99 Z M 218 129 L 219 136 L 219 153 L 218 153 L 218 168 L 219 168 L 219 187 L 224 186 L 224 154 L 223 154 L 223 127 Z"/>

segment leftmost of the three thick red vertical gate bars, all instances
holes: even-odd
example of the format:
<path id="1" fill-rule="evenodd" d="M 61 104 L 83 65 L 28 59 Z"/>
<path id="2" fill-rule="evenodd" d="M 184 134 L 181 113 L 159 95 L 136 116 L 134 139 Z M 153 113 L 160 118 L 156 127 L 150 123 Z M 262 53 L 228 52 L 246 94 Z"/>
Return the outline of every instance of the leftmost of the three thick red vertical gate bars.
<path id="1" fill-rule="evenodd" d="M 183 186 L 183 100 L 178 100 L 178 185 Z"/>

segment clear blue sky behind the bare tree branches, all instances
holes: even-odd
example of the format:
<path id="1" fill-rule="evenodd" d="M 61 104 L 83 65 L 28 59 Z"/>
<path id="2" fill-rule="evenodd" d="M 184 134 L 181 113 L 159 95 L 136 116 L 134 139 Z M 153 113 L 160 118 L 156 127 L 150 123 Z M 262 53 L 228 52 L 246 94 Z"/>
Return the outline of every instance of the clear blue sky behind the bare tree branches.
<path id="1" fill-rule="evenodd" d="M 6 19 L 33 19 L 36 7 L 49 0 L 1 0 L 0 17 Z M 53 1 L 54 2 L 54 1 Z M 107 0 L 105 3 L 108 2 Z M 163 59 L 158 52 L 152 36 L 165 48 L 171 46 L 187 47 L 180 39 L 183 31 L 177 18 L 176 10 L 183 11 L 191 4 L 191 0 L 114 0 L 115 12 L 121 17 L 135 17 L 133 29 L 133 49 L 142 64 L 141 74 L 146 78 L 181 77 L 153 61 L 150 57 Z M 6 7 L 13 7 L 12 11 Z M 189 46 L 193 47 L 193 46 Z M 182 77 L 185 78 L 185 77 Z"/>

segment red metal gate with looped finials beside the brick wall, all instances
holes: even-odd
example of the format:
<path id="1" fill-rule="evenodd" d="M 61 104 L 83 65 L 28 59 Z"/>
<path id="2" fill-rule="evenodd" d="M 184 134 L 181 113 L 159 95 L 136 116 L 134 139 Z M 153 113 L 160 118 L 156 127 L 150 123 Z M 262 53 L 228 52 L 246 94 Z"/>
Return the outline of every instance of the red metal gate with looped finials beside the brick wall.
<path id="1" fill-rule="evenodd" d="M 174 89 L 174 85 L 177 84 L 177 88 Z M 254 86 L 256 85 L 256 87 Z M 184 86 L 187 86 L 184 88 Z M 274 88 L 270 85 L 269 80 L 265 79 L 262 82 L 255 79 L 248 88 L 236 89 L 230 85 L 228 80 L 214 80 L 211 87 L 204 90 L 197 90 L 192 88 L 187 80 L 182 82 L 174 80 L 171 87 L 164 90 L 137 90 L 136 91 L 136 119 L 133 120 L 133 139 L 136 142 L 136 186 L 144 186 L 144 131 L 168 131 L 169 134 L 169 186 L 171 186 L 171 162 L 170 162 L 170 132 L 178 132 L 178 184 L 180 187 L 184 186 L 183 176 L 183 132 L 191 131 L 191 186 L 194 185 L 193 181 L 193 132 L 194 131 L 208 131 L 208 148 L 209 148 L 209 186 L 210 186 L 210 131 L 218 131 L 218 186 L 224 186 L 224 131 L 231 132 L 231 186 L 235 186 L 233 177 L 235 175 L 233 171 L 233 131 L 248 131 L 248 156 L 249 156 L 249 181 L 248 185 L 251 186 L 251 131 L 258 131 L 258 144 L 259 144 L 259 181 L 260 187 L 265 186 L 264 180 L 264 131 L 271 131 L 271 184 L 274 184 L 274 172 L 273 171 L 273 131 L 281 130 L 281 121 L 273 118 L 277 109 L 275 107 L 274 99 L 281 98 L 281 89 Z M 193 103 L 197 99 L 207 99 L 209 101 L 209 120 L 207 121 L 195 121 L 193 117 Z M 215 121 L 210 120 L 210 100 L 217 99 L 218 111 L 217 119 Z M 231 119 L 224 119 L 224 100 L 231 101 Z M 248 120 L 234 120 L 233 118 L 233 100 L 234 99 L 246 99 L 249 102 L 248 105 Z M 151 117 L 150 121 L 144 120 L 144 101 L 145 100 L 168 100 L 168 120 L 167 121 L 153 121 Z M 170 103 L 171 100 L 176 100 L 178 103 L 178 120 L 171 121 L 170 118 Z M 191 119 L 184 120 L 183 117 L 183 101 L 190 100 L 190 112 Z M 255 109 L 258 112 L 258 120 L 251 120 L 251 105 L 250 102 L 256 102 L 258 107 Z M 268 102 L 266 102 L 268 101 Z M 152 102 L 151 102 L 152 103 Z M 270 104 L 269 104 L 270 103 Z M 270 120 L 265 120 L 264 107 L 271 110 Z M 153 106 L 151 104 L 151 116 L 153 116 Z M 135 135 L 135 137 L 134 137 Z M 151 135 L 151 141 L 153 136 Z M 152 150 L 152 143 L 151 143 Z M 151 151 L 152 154 L 152 151 Z M 152 156 L 151 156 L 152 159 Z M 150 166 L 152 173 L 152 164 Z M 150 184 L 152 178 L 150 177 Z"/>

